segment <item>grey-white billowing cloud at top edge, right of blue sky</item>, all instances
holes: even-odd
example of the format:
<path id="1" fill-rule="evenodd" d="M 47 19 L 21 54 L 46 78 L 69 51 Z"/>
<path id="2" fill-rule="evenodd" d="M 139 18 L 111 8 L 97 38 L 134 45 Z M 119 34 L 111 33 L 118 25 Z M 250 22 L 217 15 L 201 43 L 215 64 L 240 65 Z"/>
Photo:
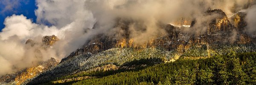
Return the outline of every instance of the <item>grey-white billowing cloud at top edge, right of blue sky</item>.
<path id="1" fill-rule="evenodd" d="M 74 21 L 93 22 L 92 14 L 84 8 L 85 0 L 37 0 L 38 23 L 51 23 L 58 28 Z M 90 25 L 84 22 L 85 25 Z"/>

